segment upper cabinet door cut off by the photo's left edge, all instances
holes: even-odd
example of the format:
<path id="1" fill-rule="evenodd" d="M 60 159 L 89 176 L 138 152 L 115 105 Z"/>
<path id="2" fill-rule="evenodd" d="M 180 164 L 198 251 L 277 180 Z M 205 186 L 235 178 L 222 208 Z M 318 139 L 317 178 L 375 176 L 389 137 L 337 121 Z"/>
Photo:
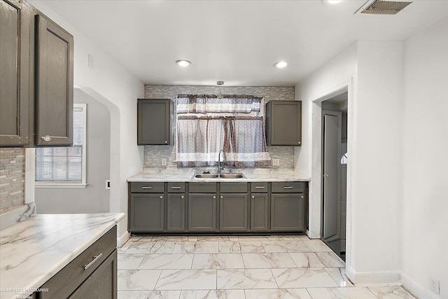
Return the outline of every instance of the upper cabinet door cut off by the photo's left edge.
<path id="1" fill-rule="evenodd" d="M 28 144 L 31 9 L 0 1 L 0 146 Z"/>

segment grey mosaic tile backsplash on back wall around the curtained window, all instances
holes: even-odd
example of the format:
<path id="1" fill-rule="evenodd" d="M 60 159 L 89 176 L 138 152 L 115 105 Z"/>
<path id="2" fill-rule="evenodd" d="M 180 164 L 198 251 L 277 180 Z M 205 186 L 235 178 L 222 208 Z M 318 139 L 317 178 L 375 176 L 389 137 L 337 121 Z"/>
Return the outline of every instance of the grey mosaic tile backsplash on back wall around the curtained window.
<path id="1" fill-rule="evenodd" d="M 188 85 L 146 85 L 146 99 L 176 100 L 179 94 L 192 95 L 254 95 L 264 97 L 265 102 L 275 100 L 293 100 L 294 87 L 281 86 L 188 86 Z M 279 159 L 279 166 L 272 168 L 294 169 L 293 146 L 268 146 L 272 159 Z M 145 146 L 144 167 L 165 167 L 162 159 L 167 159 L 167 167 L 176 167 L 174 146 Z"/>

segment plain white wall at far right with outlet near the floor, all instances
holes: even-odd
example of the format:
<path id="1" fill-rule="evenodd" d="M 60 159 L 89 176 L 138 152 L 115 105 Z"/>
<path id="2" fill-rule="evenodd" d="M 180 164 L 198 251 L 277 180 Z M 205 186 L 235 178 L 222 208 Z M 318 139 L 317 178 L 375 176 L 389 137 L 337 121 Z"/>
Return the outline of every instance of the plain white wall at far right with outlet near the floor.
<path id="1" fill-rule="evenodd" d="M 403 284 L 419 298 L 448 298 L 448 18 L 405 41 L 404 79 Z"/>

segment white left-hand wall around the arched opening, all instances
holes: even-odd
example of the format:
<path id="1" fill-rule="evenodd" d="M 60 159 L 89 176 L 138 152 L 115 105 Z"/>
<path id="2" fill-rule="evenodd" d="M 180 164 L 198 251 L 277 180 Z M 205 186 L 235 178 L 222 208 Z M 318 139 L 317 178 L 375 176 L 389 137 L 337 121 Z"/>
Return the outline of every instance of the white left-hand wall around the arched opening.
<path id="1" fill-rule="evenodd" d="M 136 115 L 137 98 L 144 96 L 144 84 L 42 1 L 31 4 L 73 34 L 74 84 L 111 111 L 110 211 L 127 214 L 126 179 L 143 169 L 143 146 L 137 146 Z M 94 70 L 88 67 L 88 55 L 94 58 Z M 119 224 L 118 235 L 121 236 L 127 230 L 127 216 Z"/>

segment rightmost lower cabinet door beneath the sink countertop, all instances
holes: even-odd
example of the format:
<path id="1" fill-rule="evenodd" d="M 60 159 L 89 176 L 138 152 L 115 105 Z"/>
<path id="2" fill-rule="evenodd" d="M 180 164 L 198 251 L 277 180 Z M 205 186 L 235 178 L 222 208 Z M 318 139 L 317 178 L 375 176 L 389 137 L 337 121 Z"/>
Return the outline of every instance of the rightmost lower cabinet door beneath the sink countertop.
<path id="1" fill-rule="evenodd" d="M 304 231 L 304 197 L 297 194 L 271 195 L 271 230 Z"/>

